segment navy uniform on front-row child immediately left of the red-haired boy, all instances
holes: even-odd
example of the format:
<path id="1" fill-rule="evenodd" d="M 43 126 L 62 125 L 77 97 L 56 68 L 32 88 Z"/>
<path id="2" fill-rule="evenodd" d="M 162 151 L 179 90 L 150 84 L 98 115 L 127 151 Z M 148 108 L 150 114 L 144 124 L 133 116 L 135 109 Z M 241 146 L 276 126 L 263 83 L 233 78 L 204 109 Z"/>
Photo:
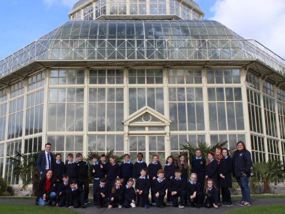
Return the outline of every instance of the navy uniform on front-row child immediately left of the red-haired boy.
<path id="1" fill-rule="evenodd" d="M 135 182 L 135 190 L 143 191 L 142 194 L 136 194 L 137 202 L 139 206 L 144 207 L 149 204 L 149 193 L 150 193 L 150 180 L 147 176 L 139 176 Z M 138 200 L 139 199 L 139 200 Z"/>

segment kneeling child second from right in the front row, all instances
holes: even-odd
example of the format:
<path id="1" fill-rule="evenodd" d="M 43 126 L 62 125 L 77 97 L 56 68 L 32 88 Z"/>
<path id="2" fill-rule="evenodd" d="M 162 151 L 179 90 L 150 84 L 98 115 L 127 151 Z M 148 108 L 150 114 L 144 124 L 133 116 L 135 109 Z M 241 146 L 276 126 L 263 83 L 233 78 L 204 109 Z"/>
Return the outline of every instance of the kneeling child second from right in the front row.
<path id="1" fill-rule="evenodd" d="M 197 182 L 196 173 L 191 173 L 190 180 L 187 183 L 187 197 L 192 207 L 201 207 L 203 201 L 203 194 L 200 189 L 200 185 Z"/>

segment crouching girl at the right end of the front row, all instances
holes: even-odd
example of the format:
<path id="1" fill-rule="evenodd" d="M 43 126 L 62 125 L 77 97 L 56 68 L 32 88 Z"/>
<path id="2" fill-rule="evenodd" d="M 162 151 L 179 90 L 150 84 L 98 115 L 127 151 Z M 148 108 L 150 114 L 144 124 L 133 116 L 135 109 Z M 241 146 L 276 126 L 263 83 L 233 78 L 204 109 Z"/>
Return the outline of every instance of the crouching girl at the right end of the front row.
<path id="1" fill-rule="evenodd" d="M 205 185 L 205 207 L 219 208 L 218 206 L 218 189 L 212 179 L 208 179 Z"/>

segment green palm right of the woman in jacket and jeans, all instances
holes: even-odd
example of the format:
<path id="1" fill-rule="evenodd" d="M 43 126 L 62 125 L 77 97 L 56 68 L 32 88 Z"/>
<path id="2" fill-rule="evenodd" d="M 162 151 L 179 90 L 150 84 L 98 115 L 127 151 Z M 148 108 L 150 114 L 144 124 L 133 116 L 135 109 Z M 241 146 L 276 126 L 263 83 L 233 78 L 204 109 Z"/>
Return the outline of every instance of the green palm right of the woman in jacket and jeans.
<path id="1" fill-rule="evenodd" d="M 268 162 L 254 163 L 253 174 L 260 180 L 264 185 L 264 193 L 269 194 L 270 183 L 284 182 L 284 164 L 279 160 L 269 160 Z"/>

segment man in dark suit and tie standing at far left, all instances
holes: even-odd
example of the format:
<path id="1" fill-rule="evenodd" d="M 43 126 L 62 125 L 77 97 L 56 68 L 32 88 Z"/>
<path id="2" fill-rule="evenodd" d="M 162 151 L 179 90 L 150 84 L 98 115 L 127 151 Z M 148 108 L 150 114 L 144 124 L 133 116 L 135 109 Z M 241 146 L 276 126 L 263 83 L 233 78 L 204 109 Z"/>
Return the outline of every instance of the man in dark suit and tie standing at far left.
<path id="1" fill-rule="evenodd" d="M 44 151 L 40 152 L 37 159 L 37 171 L 40 175 L 40 179 L 45 177 L 45 172 L 52 168 L 54 162 L 54 156 L 51 153 L 52 144 L 46 143 L 44 145 Z"/>

